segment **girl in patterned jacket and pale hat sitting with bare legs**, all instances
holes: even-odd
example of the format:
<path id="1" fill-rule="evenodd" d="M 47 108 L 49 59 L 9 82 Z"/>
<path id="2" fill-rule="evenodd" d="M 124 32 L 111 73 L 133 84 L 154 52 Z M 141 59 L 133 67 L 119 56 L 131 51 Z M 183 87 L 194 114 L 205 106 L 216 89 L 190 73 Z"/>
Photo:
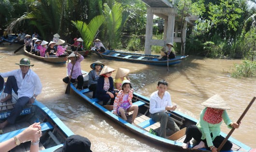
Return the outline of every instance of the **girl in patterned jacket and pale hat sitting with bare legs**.
<path id="1" fill-rule="evenodd" d="M 138 114 L 138 105 L 132 105 L 133 89 L 132 84 L 128 80 L 124 80 L 121 85 L 122 90 L 118 92 L 114 100 L 113 113 L 121 115 L 127 121 L 126 112 L 133 111 L 131 124 L 135 124 L 134 120 Z"/>

